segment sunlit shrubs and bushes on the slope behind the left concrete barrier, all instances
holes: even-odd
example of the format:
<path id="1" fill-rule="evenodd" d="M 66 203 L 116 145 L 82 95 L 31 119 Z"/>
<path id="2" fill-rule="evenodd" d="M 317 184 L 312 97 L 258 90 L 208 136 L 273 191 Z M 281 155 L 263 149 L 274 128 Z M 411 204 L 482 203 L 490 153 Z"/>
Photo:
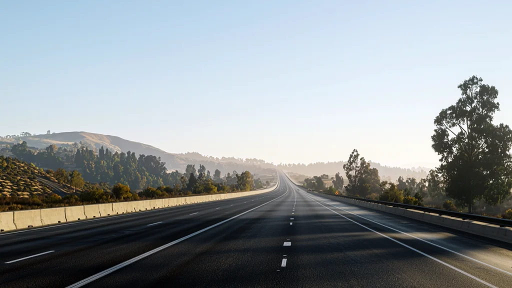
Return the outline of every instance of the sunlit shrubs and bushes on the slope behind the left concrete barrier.
<path id="1" fill-rule="evenodd" d="M 124 153 L 119 155 L 122 154 Z M 153 159 L 151 156 L 139 157 L 139 159 L 146 159 L 146 157 Z M 137 166 L 137 163 L 126 159 L 122 163 L 126 165 L 131 163 Z M 233 171 L 232 174 L 227 173 L 222 177 L 219 170 L 216 170 L 214 175 L 210 175 L 204 166 L 200 165 L 199 169 L 196 170 L 195 165 L 189 164 L 184 174 L 178 171 L 167 173 L 164 168 L 165 163 L 160 162 L 159 159 L 156 159 L 153 164 L 157 164 L 157 167 L 160 168 L 153 167 L 154 169 L 151 170 L 153 174 L 150 175 L 151 179 L 156 178 L 154 171 L 165 173 L 160 174 L 162 177 L 159 177 L 158 180 L 150 181 L 150 183 L 159 185 L 156 188 L 148 185 L 144 189 L 132 189 L 129 181 L 125 178 L 121 178 L 122 182 L 113 185 L 111 185 L 111 182 L 94 183 L 86 181 L 82 173 L 77 170 L 67 171 L 58 168 L 55 171 L 51 169 L 45 171 L 37 168 L 33 163 L 0 156 L 0 191 L 2 192 L 2 195 L 0 195 L 0 212 L 243 192 L 263 189 L 271 184 L 268 180 L 263 182 L 260 178 L 254 179 L 249 171 L 240 174 Z M 120 166 L 120 169 L 122 170 L 122 166 Z M 141 171 L 144 170 L 141 169 Z M 173 173 L 172 176 L 167 175 Z M 185 177 L 185 175 L 188 175 L 188 177 Z M 178 177 L 178 180 L 173 181 L 172 177 Z M 165 180 L 162 180 L 162 178 Z M 50 183 L 51 186 L 41 182 L 41 179 Z M 164 181 L 168 185 L 162 184 Z M 55 194 L 55 189 L 58 189 L 61 195 Z"/>

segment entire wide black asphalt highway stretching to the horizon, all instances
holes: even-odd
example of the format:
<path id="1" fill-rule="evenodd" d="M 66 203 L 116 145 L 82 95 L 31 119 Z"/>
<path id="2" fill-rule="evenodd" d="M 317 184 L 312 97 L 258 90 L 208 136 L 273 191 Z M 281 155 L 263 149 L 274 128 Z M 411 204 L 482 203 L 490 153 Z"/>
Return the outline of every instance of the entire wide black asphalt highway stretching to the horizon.
<path id="1" fill-rule="evenodd" d="M 512 247 L 272 192 L 0 233 L 0 287 L 512 287 Z"/>

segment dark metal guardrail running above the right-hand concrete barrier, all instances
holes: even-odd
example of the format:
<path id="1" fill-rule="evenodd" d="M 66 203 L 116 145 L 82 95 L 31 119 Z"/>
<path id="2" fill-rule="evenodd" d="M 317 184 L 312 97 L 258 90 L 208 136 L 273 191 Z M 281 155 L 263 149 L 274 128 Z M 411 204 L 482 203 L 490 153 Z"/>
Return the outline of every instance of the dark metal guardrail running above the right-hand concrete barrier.
<path id="1" fill-rule="evenodd" d="M 303 186 L 300 186 L 300 185 L 298 185 L 296 183 L 295 183 L 295 185 L 297 187 L 304 188 Z M 304 189 L 306 189 L 306 188 L 304 188 Z M 479 222 L 483 222 L 483 223 L 498 225 L 499 227 L 512 227 L 512 220 L 508 220 L 508 219 L 501 219 L 501 218 L 482 216 L 482 215 L 477 215 L 477 214 L 470 214 L 470 213 L 462 213 L 462 212 L 441 210 L 441 209 L 436 209 L 436 208 L 416 206 L 416 205 L 409 205 L 409 204 L 402 204 L 402 203 L 395 203 L 395 202 L 372 200 L 372 199 L 352 197 L 352 196 L 347 196 L 347 195 L 334 195 L 334 194 L 325 193 L 323 191 L 317 191 L 317 190 L 312 190 L 312 191 L 317 192 L 317 193 L 322 193 L 322 194 L 325 194 L 325 195 L 331 195 L 331 196 L 342 197 L 342 198 L 347 198 L 347 199 L 365 201 L 365 202 L 381 204 L 381 205 L 388 205 L 388 206 L 398 207 L 398 208 L 403 208 L 403 209 L 418 210 L 418 211 L 423 211 L 423 212 L 426 212 L 426 213 L 437 214 L 439 216 L 444 215 L 444 216 L 451 216 L 451 217 L 461 218 L 462 220 L 474 220 L 474 221 L 479 221 Z"/>

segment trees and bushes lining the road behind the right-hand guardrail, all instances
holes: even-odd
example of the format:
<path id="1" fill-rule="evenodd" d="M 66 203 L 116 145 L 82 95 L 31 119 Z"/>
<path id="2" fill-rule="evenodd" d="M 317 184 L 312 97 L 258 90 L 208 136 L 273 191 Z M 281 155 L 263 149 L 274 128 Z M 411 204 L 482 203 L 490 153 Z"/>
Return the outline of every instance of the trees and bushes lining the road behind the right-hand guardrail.
<path id="1" fill-rule="evenodd" d="M 304 186 L 328 193 L 512 219 L 512 130 L 494 124 L 498 90 L 473 76 L 458 86 L 461 97 L 435 118 L 432 148 L 438 168 L 425 178 L 382 181 L 378 170 L 353 150 L 343 165 L 347 184 L 326 189 L 322 176 Z M 336 174 L 336 179 L 338 179 Z M 325 177 L 324 177 L 325 178 Z M 343 178 L 336 180 L 343 183 Z"/>

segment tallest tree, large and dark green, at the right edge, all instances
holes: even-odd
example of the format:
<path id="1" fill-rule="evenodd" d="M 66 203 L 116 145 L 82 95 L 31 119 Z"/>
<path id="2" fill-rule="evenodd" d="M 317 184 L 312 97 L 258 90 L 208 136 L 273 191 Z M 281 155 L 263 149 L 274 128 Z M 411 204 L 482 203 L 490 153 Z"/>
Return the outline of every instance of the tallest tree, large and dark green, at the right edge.
<path id="1" fill-rule="evenodd" d="M 473 76 L 458 86 L 462 97 L 435 118 L 432 148 L 441 158 L 446 195 L 472 212 L 476 200 L 497 204 L 512 189 L 512 130 L 493 124 L 498 90 Z"/>

